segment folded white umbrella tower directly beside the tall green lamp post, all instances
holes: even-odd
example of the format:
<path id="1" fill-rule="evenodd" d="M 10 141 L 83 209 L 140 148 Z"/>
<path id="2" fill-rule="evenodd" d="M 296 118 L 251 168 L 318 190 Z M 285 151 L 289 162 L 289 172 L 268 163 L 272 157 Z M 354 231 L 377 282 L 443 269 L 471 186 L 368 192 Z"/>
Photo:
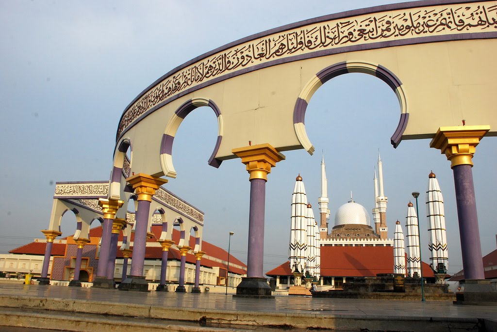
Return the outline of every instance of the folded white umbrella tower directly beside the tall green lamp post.
<path id="1" fill-rule="evenodd" d="M 413 203 L 407 205 L 406 240 L 407 240 L 407 275 L 421 276 L 421 260 L 419 252 L 419 231 L 416 212 Z"/>

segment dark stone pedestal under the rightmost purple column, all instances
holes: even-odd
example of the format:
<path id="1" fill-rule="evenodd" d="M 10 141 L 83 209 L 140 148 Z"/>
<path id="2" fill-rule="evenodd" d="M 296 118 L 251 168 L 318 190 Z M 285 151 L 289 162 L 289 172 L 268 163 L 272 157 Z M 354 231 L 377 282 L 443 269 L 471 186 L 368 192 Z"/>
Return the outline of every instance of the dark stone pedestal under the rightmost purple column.
<path id="1" fill-rule="evenodd" d="M 456 292 L 454 304 L 497 306 L 497 290 L 490 280 L 463 279 L 459 281 L 461 292 Z"/>

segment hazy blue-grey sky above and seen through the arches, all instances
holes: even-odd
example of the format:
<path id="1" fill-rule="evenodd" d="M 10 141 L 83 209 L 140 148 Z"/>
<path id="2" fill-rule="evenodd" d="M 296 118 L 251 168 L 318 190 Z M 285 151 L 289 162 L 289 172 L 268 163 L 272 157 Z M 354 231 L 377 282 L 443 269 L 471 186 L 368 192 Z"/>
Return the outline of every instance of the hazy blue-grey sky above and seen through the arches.
<path id="1" fill-rule="evenodd" d="M 0 253 L 43 238 L 40 230 L 48 227 L 55 182 L 109 179 L 122 112 L 170 69 L 254 33 L 393 2 L 0 0 Z M 389 237 L 396 220 L 405 225 L 412 192 L 421 193 L 419 214 L 425 215 L 432 170 L 445 200 L 449 273 L 462 269 L 450 162 L 429 148 L 429 139 L 404 140 L 394 149 L 390 136 L 399 113 L 393 91 L 366 74 L 338 76 L 316 92 L 305 119 L 315 154 L 283 152 L 286 160 L 268 175 L 264 271 L 288 259 L 297 175 L 303 177 L 318 216 L 324 153 L 332 226 L 335 211 L 351 192 L 368 211 L 374 207 L 378 151 Z M 165 187 L 204 211 L 203 240 L 228 249 L 229 232 L 235 232 L 231 253 L 246 262 L 248 173 L 239 159 L 224 161 L 219 169 L 207 165 L 216 138 L 212 110 L 199 108 L 188 115 L 174 139 L 178 175 Z M 494 137 L 485 137 L 473 158 L 483 255 L 496 249 L 496 147 Z M 210 194 L 214 188 L 215 196 Z M 424 217 L 420 227 L 427 262 Z M 63 236 L 75 229 L 74 216 L 65 215 Z"/>

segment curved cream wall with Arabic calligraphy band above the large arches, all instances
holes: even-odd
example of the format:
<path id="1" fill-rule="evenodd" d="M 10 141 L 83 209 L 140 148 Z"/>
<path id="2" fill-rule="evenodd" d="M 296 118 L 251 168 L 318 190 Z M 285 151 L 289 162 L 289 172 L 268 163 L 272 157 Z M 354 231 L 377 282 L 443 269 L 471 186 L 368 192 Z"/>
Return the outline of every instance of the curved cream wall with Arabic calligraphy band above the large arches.
<path id="1" fill-rule="evenodd" d="M 439 127 L 460 125 L 462 119 L 490 125 L 489 134 L 496 135 L 496 27 L 497 2 L 484 1 L 364 9 L 254 35 L 152 84 L 124 111 L 116 146 L 125 138 L 131 141 L 133 172 L 167 174 L 161 166 L 163 134 L 174 136 L 181 121 L 174 112 L 201 98 L 222 115 L 220 160 L 234 158 L 231 150 L 249 140 L 280 151 L 312 152 L 305 127 L 294 120 L 296 104 L 299 97 L 312 98 L 321 70 L 344 62 L 354 66 L 352 71 L 372 75 L 381 66 L 400 81 L 393 93 L 399 97 L 396 119 L 409 114 L 403 139 L 431 137 Z M 371 112 L 381 111 L 372 105 Z M 393 134 L 396 128 L 389 130 Z"/>

